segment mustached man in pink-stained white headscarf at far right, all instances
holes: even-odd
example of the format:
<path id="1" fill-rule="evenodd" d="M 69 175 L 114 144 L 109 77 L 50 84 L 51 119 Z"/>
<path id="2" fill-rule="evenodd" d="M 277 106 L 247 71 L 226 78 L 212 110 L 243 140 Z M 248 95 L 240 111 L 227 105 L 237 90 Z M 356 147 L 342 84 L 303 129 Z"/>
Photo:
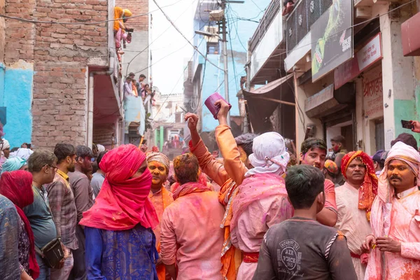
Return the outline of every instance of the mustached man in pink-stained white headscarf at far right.
<path id="1" fill-rule="evenodd" d="M 402 142 L 388 153 L 379 176 L 368 235 L 365 279 L 420 279 L 420 155 Z"/>

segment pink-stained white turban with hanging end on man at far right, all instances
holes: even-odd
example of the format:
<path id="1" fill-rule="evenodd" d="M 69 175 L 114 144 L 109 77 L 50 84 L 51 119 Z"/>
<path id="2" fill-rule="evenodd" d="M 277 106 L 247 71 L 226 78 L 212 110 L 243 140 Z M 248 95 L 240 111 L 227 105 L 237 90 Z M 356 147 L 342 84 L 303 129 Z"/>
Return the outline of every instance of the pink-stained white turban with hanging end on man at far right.
<path id="1" fill-rule="evenodd" d="M 392 146 L 385 160 L 385 167 L 379 175 L 378 196 L 384 202 L 390 202 L 394 193 L 393 188 L 388 183 L 388 163 L 392 160 L 401 160 L 409 165 L 412 172 L 417 177 L 417 186 L 420 186 L 420 154 L 412 146 L 402 142 L 397 142 Z M 414 186 L 413 186 L 414 187 Z"/>

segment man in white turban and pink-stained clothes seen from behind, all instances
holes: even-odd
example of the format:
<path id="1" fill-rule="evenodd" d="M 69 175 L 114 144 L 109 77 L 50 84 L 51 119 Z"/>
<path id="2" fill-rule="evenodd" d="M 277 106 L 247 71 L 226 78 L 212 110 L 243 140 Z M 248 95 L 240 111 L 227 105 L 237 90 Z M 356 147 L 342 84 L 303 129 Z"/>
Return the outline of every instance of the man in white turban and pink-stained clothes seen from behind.
<path id="1" fill-rule="evenodd" d="M 252 151 L 249 163 L 253 169 L 246 172 L 238 188 L 230 223 L 232 244 L 243 252 L 237 274 L 241 280 L 252 279 L 265 232 L 293 216 L 283 179 L 290 158 L 283 137 L 276 132 L 255 137 Z"/>

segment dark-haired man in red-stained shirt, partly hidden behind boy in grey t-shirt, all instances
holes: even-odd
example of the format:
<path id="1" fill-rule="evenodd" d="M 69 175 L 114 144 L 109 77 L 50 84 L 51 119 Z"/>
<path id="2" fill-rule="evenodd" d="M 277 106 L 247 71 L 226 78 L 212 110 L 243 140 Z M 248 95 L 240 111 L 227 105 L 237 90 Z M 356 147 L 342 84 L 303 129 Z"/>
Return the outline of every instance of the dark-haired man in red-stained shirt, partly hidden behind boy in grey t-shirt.
<path id="1" fill-rule="evenodd" d="M 300 146 L 300 164 L 311 165 L 323 171 L 327 145 L 321 139 L 309 138 Z M 335 204 L 335 185 L 332 181 L 325 179 L 324 182 L 325 205 L 316 214 L 316 220 L 323 225 L 333 227 L 337 222 L 337 206 Z"/>

